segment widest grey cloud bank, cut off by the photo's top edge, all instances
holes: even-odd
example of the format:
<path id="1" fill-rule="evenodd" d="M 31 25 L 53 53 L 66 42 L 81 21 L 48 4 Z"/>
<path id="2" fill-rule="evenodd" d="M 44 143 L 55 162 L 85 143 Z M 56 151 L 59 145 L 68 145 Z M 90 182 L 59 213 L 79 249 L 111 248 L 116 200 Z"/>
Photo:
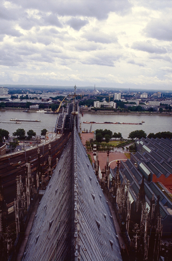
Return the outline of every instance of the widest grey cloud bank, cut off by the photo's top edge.
<path id="1" fill-rule="evenodd" d="M 131 10 L 131 3 L 128 0 L 13 0 L 17 5 L 26 9 L 37 9 L 45 12 L 58 13 L 59 16 L 87 16 L 97 19 L 106 19 L 110 12 L 121 15 L 127 14 Z"/>

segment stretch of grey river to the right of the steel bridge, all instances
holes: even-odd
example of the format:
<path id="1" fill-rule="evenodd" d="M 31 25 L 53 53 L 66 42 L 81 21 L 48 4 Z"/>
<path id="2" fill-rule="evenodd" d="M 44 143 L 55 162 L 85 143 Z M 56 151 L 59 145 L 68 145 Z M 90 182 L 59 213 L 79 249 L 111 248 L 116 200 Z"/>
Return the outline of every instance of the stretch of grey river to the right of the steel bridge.
<path id="1" fill-rule="evenodd" d="M 157 133 L 163 131 L 172 131 L 172 116 L 165 115 L 140 115 L 140 114 L 93 114 L 84 113 L 83 117 L 80 114 L 82 131 L 85 129 L 90 130 L 90 123 L 83 123 L 83 121 L 95 122 L 125 122 L 125 123 L 139 123 L 144 121 L 142 125 L 135 124 L 101 124 L 93 123 L 91 131 L 96 129 L 110 129 L 113 133 L 122 133 L 123 138 L 127 138 L 129 133 L 135 130 L 144 130 L 147 135 L 150 132 Z"/>

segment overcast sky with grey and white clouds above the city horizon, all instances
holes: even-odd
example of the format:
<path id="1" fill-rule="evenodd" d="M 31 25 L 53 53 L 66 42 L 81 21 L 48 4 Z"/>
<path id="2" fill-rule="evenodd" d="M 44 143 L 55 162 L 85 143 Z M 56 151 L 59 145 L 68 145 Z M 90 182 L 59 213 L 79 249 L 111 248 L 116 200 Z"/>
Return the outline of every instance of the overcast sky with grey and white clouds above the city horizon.
<path id="1" fill-rule="evenodd" d="M 0 84 L 172 90 L 172 1 L 0 3 Z"/>

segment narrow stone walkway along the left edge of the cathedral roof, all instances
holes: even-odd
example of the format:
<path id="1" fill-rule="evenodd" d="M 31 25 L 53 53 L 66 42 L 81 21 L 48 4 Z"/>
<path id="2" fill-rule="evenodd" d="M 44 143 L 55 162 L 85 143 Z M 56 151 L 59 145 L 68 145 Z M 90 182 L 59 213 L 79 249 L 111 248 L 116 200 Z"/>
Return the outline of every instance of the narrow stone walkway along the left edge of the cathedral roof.
<path id="1" fill-rule="evenodd" d="M 24 233 L 24 238 L 22 240 L 22 244 L 20 246 L 20 250 L 19 250 L 19 253 L 17 255 L 16 261 L 21 261 L 21 259 L 22 259 L 24 249 L 26 247 L 26 243 L 27 243 L 27 240 L 28 240 L 28 237 L 29 237 L 30 229 L 32 228 L 32 223 L 33 223 L 38 205 L 39 205 L 39 199 L 37 199 L 37 201 L 36 201 L 36 203 L 33 207 L 32 213 L 30 215 L 30 218 L 29 218 L 29 221 L 28 221 L 28 224 L 27 224 L 27 228 L 26 228 L 26 231 Z"/>

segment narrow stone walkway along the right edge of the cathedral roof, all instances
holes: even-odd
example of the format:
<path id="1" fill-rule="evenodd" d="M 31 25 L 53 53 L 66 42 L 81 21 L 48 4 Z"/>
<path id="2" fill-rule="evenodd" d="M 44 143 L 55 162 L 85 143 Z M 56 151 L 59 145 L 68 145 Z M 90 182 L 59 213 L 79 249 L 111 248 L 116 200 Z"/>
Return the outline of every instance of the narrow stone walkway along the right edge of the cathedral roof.
<path id="1" fill-rule="evenodd" d="M 103 194 L 104 194 L 106 200 L 108 201 L 110 212 L 112 214 L 113 223 L 114 223 L 114 226 L 115 226 L 115 229 L 116 229 L 116 234 L 118 235 L 118 240 L 119 240 L 120 247 L 121 247 L 121 249 L 125 249 L 126 248 L 125 242 L 124 242 L 124 239 L 122 237 L 121 229 L 119 227 L 119 224 L 118 224 L 118 221 L 117 221 L 117 218 L 116 218 L 116 215 L 115 215 L 112 203 L 110 202 L 110 200 L 109 200 L 108 196 L 106 195 L 106 193 L 103 192 Z"/>

